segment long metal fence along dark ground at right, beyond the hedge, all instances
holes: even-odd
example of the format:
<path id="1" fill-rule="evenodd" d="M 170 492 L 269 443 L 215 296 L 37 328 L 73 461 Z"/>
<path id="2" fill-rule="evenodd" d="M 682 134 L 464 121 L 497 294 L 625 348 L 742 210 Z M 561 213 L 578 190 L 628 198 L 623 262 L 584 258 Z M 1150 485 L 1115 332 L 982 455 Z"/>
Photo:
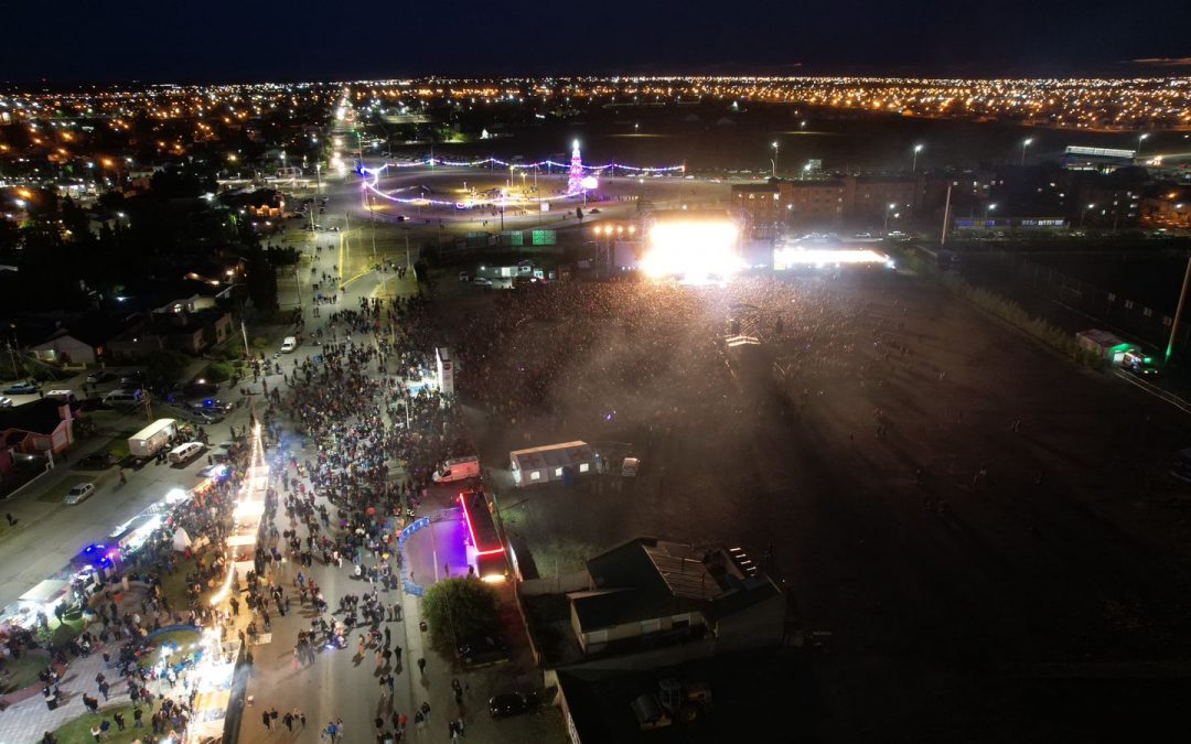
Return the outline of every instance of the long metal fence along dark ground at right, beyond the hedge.
<path id="1" fill-rule="evenodd" d="M 979 273 L 987 269 L 1000 271 L 1041 296 L 1087 315 L 1089 326 L 1095 320 L 1105 330 L 1135 337 L 1159 349 L 1165 349 L 1170 340 L 1174 318 L 1146 302 L 1095 287 L 1021 254 L 997 249 L 964 254 L 965 276 L 980 283 Z M 1189 342 L 1191 324 L 1184 323 L 1176 339 L 1180 354 L 1185 352 Z"/>

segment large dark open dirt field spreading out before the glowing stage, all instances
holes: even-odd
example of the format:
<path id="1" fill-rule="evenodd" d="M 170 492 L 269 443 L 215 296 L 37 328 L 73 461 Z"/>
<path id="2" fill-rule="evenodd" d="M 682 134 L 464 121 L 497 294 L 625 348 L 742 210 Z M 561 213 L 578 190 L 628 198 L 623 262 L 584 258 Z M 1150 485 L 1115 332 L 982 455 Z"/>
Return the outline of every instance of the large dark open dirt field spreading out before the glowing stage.
<path id="1" fill-rule="evenodd" d="M 908 275 L 543 292 L 443 302 L 481 456 L 617 440 L 644 464 L 503 490 L 512 531 L 555 564 L 637 534 L 772 549 L 797 619 L 830 632 L 791 661 L 817 689 L 791 737 L 1143 740 L 1177 720 L 1184 414 Z M 717 340 L 742 314 L 752 361 Z"/>

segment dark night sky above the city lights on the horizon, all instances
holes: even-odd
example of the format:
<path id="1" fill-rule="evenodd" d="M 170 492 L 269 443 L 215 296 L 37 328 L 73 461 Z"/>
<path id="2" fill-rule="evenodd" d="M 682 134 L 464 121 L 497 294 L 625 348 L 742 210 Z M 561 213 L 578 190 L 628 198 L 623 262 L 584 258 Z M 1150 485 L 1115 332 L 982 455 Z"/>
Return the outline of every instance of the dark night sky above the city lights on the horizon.
<path id="1" fill-rule="evenodd" d="M 1191 2 L 1160 10 L 1073 0 L 5 5 L 0 79 L 11 82 L 1191 74 Z"/>

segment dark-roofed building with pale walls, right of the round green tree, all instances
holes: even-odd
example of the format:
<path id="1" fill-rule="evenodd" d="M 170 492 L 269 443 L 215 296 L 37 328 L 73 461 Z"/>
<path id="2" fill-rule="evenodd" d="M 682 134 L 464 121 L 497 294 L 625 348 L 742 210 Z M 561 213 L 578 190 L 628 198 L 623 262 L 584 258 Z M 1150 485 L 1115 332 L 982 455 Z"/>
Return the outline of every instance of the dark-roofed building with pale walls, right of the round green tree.
<path id="1" fill-rule="evenodd" d="M 587 562 L 567 595 L 585 656 L 706 639 L 712 652 L 777 645 L 786 596 L 740 549 L 638 537 Z"/>

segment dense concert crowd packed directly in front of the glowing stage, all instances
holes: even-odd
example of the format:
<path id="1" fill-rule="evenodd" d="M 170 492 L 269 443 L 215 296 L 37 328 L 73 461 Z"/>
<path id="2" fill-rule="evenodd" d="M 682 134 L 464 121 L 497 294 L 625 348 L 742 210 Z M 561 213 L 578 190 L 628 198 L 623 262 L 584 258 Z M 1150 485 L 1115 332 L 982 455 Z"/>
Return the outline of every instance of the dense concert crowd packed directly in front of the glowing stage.
<path id="1" fill-rule="evenodd" d="M 580 415 L 582 431 L 606 423 L 632 436 L 704 427 L 741 413 L 724 394 L 735 384 L 725 339 L 761 337 L 802 376 L 838 376 L 863 311 L 825 286 L 773 279 L 545 285 L 466 318 L 460 386 L 515 423 L 545 414 L 565 429 Z"/>

